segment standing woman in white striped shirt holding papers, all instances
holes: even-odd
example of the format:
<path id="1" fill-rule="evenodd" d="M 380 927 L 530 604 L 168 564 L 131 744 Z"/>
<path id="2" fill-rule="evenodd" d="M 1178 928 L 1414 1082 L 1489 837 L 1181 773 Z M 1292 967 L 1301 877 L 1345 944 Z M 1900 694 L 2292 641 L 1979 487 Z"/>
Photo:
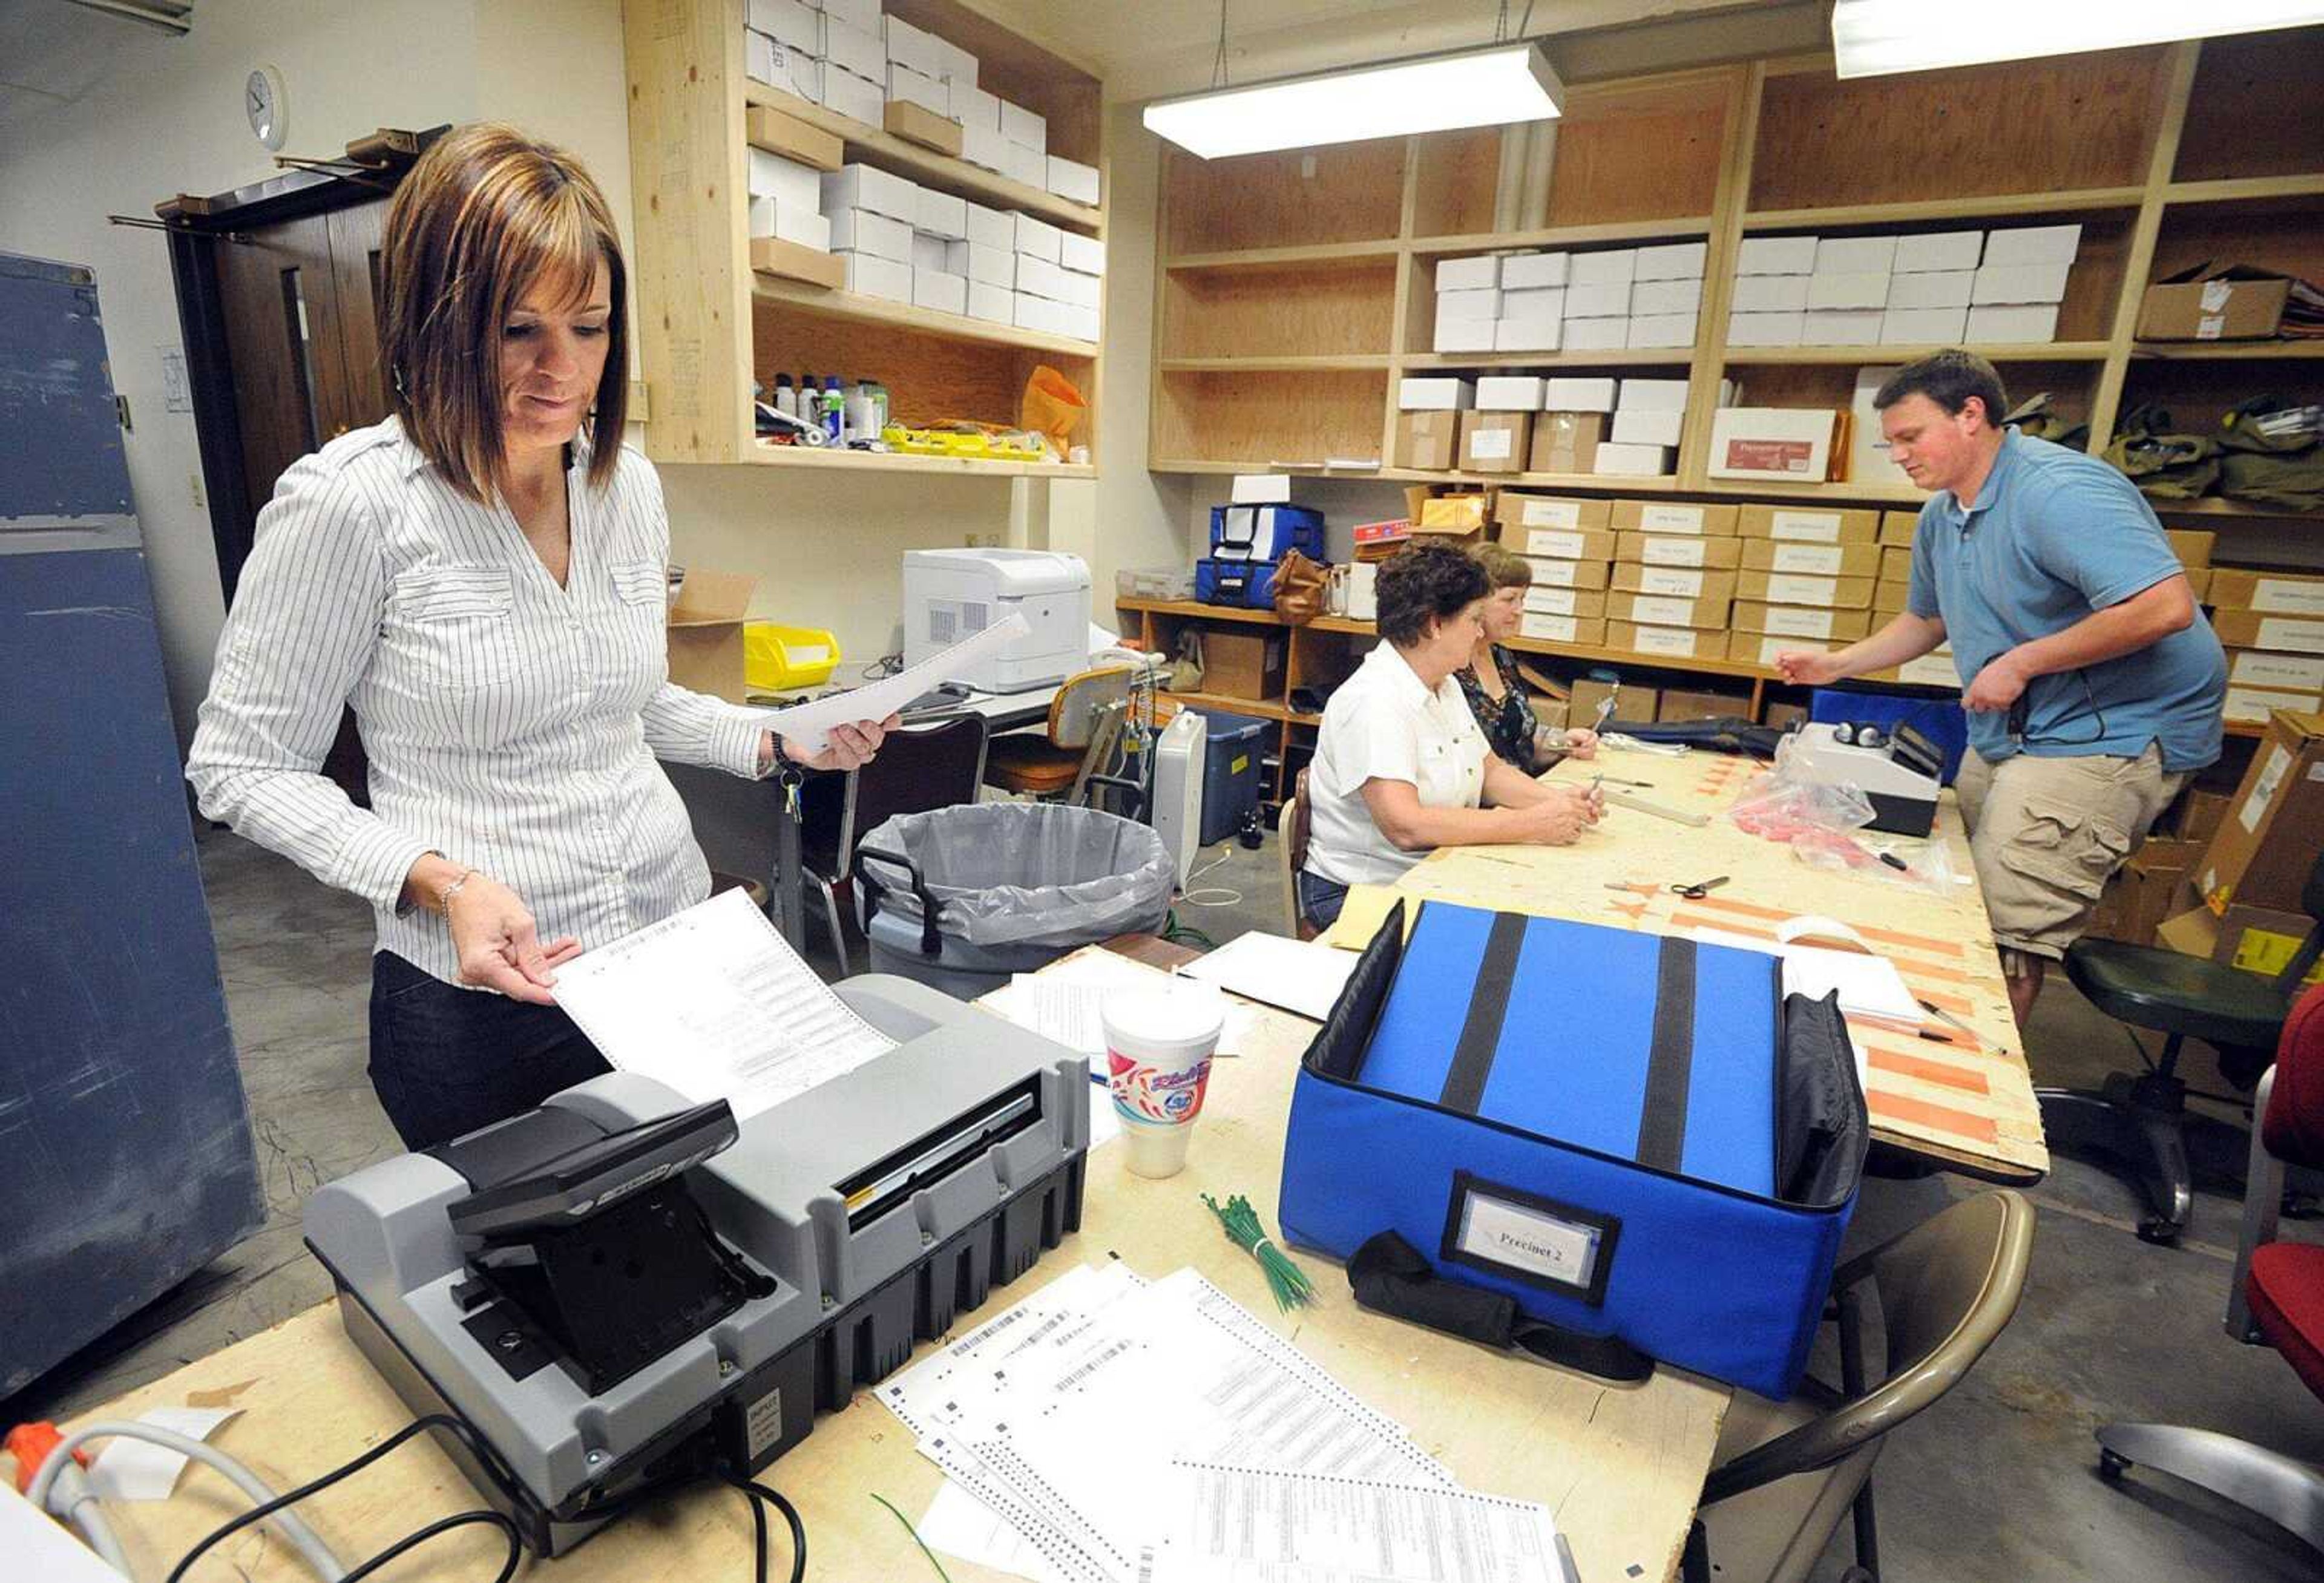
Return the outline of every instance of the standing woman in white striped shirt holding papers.
<path id="1" fill-rule="evenodd" d="M 258 516 L 186 776 L 209 818 L 372 902 L 372 1086 L 409 1148 L 604 1072 L 555 969 L 709 893 L 655 758 L 853 769 L 669 683 L 669 518 L 621 444 L 604 195 L 509 126 L 444 135 L 388 209 L 395 416 L 290 465 Z M 321 774 L 342 707 L 370 809 Z"/>

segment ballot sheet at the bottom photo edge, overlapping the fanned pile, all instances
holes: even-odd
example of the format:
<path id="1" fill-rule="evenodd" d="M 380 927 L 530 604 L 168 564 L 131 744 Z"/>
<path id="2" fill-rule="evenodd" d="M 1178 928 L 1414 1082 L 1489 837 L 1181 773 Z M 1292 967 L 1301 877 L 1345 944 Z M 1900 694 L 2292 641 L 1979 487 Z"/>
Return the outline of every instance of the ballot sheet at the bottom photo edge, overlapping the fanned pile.
<path id="1" fill-rule="evenodd" d="M 1548 1506 L 1176 1460 L 1141 1583 L 1562 1583 Z"/>

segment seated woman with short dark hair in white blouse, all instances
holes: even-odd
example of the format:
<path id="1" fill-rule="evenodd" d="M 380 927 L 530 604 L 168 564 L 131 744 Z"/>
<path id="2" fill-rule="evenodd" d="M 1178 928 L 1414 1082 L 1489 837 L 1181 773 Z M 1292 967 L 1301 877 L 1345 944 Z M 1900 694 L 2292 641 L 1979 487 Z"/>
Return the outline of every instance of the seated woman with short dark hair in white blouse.
<path id="1" fill-rule="evenodd" d="M 1390 883 L 1436 846 L 1564 846 L 1597 823 L 1594 793 L 1492 753 L 1452 679 L 1490 595 L 1485 570 L 1450 544 L 1380 565 L 1380 644 L 1325 704 L 1308 765 L 1304 918 L 1329 925 L 1348 886 Z"/>

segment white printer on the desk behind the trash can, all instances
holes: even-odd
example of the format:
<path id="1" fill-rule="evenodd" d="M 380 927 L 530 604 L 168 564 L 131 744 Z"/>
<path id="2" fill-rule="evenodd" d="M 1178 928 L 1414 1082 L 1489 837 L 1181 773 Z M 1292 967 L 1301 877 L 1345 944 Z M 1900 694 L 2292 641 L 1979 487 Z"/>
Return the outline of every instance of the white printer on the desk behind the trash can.
<path id="1" fill-rule="evenodd" d="M 946 681 L 978 693 L 1055 686 L 1090 662 L 1090 567 L 1046 549 L 904 551 L 904 665 L 932 660 L 997 621 L 1025 637 Z"/>

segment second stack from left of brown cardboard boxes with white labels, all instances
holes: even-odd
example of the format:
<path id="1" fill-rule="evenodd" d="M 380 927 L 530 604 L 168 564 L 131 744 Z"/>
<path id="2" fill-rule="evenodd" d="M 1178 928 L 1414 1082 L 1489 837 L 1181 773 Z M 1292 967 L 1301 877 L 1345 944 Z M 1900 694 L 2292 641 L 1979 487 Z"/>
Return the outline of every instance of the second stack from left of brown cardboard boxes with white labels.
<path id="1" fill-rule="evenodd" d="M 1736 507 L 1615 500 L 1613 602 L 1606 646 L 1666 660 L 1727 653 L 1743 546 Z"/>

